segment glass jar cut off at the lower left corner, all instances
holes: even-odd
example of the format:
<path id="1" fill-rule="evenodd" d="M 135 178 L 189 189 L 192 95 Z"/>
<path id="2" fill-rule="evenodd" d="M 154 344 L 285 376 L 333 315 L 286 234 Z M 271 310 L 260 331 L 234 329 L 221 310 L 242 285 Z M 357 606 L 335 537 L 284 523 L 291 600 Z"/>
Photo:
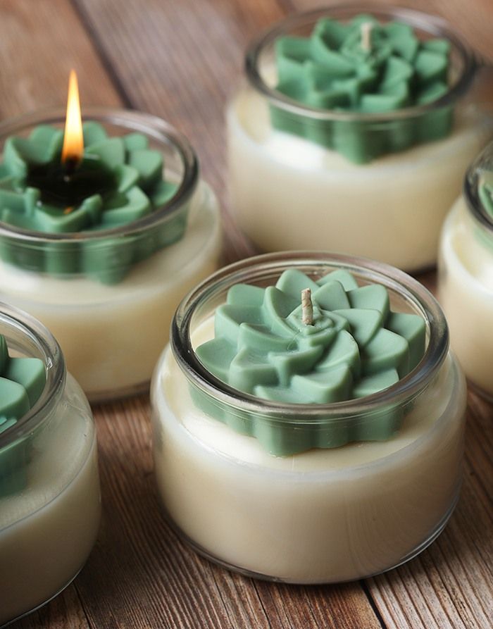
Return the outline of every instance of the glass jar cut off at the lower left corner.
<path id="1" fill-rule="evenodd" d="M 32 409 L 0 432 L 0 625 L 63 590 L 96 540 L 101 499 L 89 404 L 54 337 L 0 304 L 11 354 L 41 359 L 46 385 Z"/>

